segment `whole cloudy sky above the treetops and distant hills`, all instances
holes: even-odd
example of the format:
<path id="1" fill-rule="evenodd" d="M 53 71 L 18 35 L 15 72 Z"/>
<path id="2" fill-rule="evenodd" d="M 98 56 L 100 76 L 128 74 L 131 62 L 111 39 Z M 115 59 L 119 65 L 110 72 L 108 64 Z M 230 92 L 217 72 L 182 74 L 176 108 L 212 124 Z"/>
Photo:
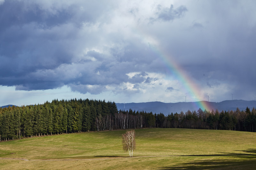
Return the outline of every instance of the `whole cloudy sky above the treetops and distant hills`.
<path id="1" fill-rule="evenodd" d="M 0 0 L 0 106 L 255 100 L 255 6 Z"/>

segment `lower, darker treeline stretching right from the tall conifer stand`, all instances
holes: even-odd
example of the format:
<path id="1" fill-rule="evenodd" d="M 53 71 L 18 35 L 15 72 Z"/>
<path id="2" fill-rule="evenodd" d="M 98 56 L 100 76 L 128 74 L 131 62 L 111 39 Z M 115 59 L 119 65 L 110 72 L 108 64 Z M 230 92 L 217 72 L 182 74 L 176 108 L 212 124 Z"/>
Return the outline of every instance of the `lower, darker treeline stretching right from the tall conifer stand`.
<path id="1" fill-rule="evenodd" d="M 119 129 L 126 128 L 187 128 L 187 129 L 221 129 L 221 130 L 238 130 L 256 132 L 256 109 L 252 111 L 247 107 L 240 111 L 212 110 L 206 111 L 199 108 L 197 111 L 171 113 L 164 115 L 163 113 L 154 114 L 152 112 L 136 112 L 120 110 L 118 113 L 120 119 Z M 127 122 L 126 122 L 127 121 Z M 124 123 L 126 122 L 126 124 Z M 125 126 L 124 126 L 125 124 Z M 136 126 L 135 126 L 136 125 Z"/>

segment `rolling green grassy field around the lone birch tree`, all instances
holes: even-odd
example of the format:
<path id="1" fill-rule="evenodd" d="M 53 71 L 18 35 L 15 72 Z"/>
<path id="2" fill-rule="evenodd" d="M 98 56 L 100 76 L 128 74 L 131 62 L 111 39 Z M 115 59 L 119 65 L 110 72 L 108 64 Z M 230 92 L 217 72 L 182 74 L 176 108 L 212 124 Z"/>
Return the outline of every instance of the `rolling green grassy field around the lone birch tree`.
<path id="1" fill-rule="evenodd" d="M 137 148 L 132 158 L 122 150 L 125 130 L 1 142 L 0 158 L 29 161 L 0 159 L 0 169 L 256 169 L 256 133 L 201 129 L 135 131 Z"/>

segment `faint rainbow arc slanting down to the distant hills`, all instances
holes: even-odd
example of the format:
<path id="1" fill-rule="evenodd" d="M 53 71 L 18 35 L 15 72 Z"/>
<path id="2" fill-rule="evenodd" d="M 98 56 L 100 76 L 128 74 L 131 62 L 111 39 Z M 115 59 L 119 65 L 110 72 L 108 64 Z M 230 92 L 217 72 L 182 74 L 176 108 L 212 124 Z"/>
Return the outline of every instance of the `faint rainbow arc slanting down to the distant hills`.
<path id="1" fill-rule="evenodd" d="M 157 54 L 157 56 L 159 56 L 163 60 L 170 73 L 180 81 L 180 83 L 183 85 L 183 88 L 186 91 L 190 92 L 192 96 L 194 96 L 194 99 L 197 101 L 194 102 L 196 105 L 195 107 L 197 107 L 198 109 L 201 108 L 203 111 L 211 111 L 212 106 L 210 102 L 202 100 L 202 98 L 200 97 L 200 90 L 198 86 L 190 77 L 188 77 L 186 72 L 183 71 L 184 69 L 182 69 L 180 65 L 175 62 L 175 60 L 170 55 L 166 54 L 164 50 L 161 50 L 154 46 L 150 47 Z"/>

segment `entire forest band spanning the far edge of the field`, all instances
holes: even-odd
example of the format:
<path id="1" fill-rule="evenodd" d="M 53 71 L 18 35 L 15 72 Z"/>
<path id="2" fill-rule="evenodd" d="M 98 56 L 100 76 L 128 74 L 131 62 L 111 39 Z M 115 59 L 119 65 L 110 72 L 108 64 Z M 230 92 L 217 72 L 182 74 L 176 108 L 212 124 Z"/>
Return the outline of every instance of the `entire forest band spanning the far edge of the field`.
<path id="1" fill-rule="evenodd" d="M 153 114 L 117 110 L 105 100 L 52 100 L 44 104 L 0 108 L 0 140 L 113 129 L 189 128 L 256 132 L 256 110 L 212 110 Z"/>

